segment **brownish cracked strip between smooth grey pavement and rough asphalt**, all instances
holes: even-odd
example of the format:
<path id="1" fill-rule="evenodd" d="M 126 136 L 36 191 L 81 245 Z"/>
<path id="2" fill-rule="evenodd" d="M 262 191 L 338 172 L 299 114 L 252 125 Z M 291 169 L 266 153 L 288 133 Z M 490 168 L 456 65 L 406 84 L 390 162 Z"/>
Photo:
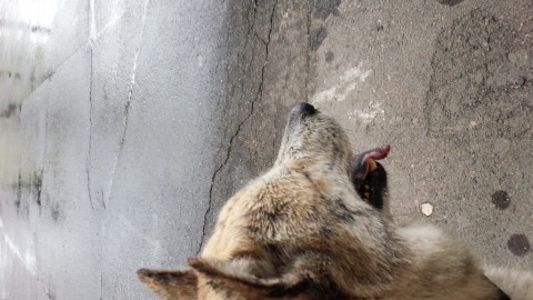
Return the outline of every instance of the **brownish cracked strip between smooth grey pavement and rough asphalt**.
<path id="1" fill-rule="evenodd" d="M 301 34 L 300 24 L 306 18 L 306 3 L 240 1 L 230 9 L 233 16 L 230 47 L 235 49 L 228 58 L 234 62 L 230 63 L 228 76 L 232 101 L 224 103 L 222 120 L 242 119 L 239 123 L 221 124 L 225 127 L 227 138 L 222 140 L 217 158 L 224 163 L 219 164 L 222 167 L 217 170 L 213 181 L 211 199 L 214 201 L 208 211 L 207 236 L 224 199 L 273 161 L 286 111 L 293 103 L 305 99 L 301 89 L 304 74 L 300 72 L 305 69 L 305 56 L 302 53 L 305 53 L 306 36 Z M 294 9 L 293 16 L 284 18 L 289 9 Z M 288 63 L 292 64 L 289 69 Z M 276 77 L 286 81 L 275 82 L 273 71 L 279 71 Z M 279 91 L 272 89 L 273 83 L 284 86 L 289 82 L 293 86 L 280 87 Z M 257 136 L 269 138 L 257 139 Z M 228 154 L 230 149 L 238 151 Z"/>

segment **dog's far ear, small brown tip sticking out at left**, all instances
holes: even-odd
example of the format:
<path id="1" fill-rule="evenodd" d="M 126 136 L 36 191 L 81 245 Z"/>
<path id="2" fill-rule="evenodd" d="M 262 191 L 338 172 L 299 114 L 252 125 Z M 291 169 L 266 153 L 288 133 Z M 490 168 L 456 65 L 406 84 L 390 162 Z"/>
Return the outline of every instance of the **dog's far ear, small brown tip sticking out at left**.
<path id="1" fill-rule="evenodd" d="M 163 299 L 198 299 L 198 278 L 192 270 L 150 270 L 137 271 L 139 279 Z"/>

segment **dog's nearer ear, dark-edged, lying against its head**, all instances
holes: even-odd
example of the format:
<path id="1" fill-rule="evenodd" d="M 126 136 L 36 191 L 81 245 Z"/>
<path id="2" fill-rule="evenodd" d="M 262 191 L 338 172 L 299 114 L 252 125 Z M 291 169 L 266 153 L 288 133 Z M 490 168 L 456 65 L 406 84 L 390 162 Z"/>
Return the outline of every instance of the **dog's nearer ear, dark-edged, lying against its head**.
<path id="1" fill-rule="evenodd" d="M 234 293 L 245 299 L 266 299 L 270 297 L 296 297 L 305 292 L 308 280 L 300 274 L 258 278 L 250 272 L 247 262 L 237 260 L 220 261 L 214 259 L 191 258 L 189 264 L 204 277 L 210 289 L 222 294 Z M 202 288 L 202 280 L 199 281 Z"/>

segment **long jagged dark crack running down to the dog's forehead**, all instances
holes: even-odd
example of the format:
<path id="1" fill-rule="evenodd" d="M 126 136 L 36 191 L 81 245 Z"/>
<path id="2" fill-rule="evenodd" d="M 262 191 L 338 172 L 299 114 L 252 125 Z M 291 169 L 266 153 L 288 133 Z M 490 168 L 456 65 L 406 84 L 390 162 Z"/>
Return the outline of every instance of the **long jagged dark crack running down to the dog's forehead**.
<path id="1" fill-rule="evenodd" d="M 270 14 L 270 28 L 269 28 L 269 32 L 266 34 L 266 41 L 264 39 L 262 39 L 261 37 L 259 37 L 259 34 L 255 32 L 255 30 L 253 30 L 253 26 L 255 22 L 253 22 L 250 27 L 249 27 L 249 30 L 248 30 L 248 33 L 247 33 L 247 38 L 249 37 L 250 34 L 250 31 L 253 31 L 253 36 L 260 40 L 263 44 L 264 44 L 264 48 L 265 48 L 265 56 L 264 56 L 264 63 L 261 68 L 261 80 L 259 82 L 259 88 L 258 88 L 258 92 L 255 94 L 255 97 L 252 99 L 251 103 L 250 103 L 250 112 L 248 113 L 248 116 L 238 124 L 237 127 L 237 130 L 235 130 L 235 133 L 233 133 L 233 136 L 230 138 L 230 142 L 229 142 L 229 146 L 228 146 L 228 150 L 227 150 L 227 154 L 225 154 L 225 159 L 224 161 L 219 164 L 219 167 L 215 169 L 215 171 L 213 172 L 213 176 L 211 178 L 211 186 L 209 188 L 209 201 L 208 201 L 208 208 L 205 210 L 205 213 L 203 216 L 203 227 L 202 227 L 202 237 L 201 237 L 201 240 L 200 240 L 200 246 L 197 250 L 197 254 L 200 253 L 200 251 L 202 250 L 202 247 L 203 247 L 203 243 L 205 241 L 205 227 L 207 227 L 207 223 L 208 223 L 208 216 L 209 213 L 211 212 L 211 208 L 212 208 L 212 201 L 213 201 L 213 189 L 214 189 L 214 182 L 217 181 L 217 177 L 218 174 L 220 173 L 220 171 L 227 166 L 228 161 L 230 160 L 230 157 L 231 157 L 231 150 L 233 148 L 233 142 L 234 140 L 237 139 L 237 137 L 239 136 L 239 133 L 241 132 L 241 128 L 242 126 L 248 122 L 248 120 L 250 120 L 253 116 L 253 111 L 254 111 L 254 106 L 258 101 L 261 101 L 262 97 L 263 97 L 263 87 L 264 87 L 264 72 L 265 72 L 265 69 L 266 69 L 266 64 L 268 64 L 268 60 L 269 60 L 269 47 L 270 47 L 270 41 L 271 41 L 271 37 L 272 37 L 272 29 L 274 27 L 274 14 L 275 14 L 275 7 L 278 6 L 278 1 L 276 0 L 274 2 L 274 4 L 272 6 L 272 12 Z M 254 2 L 254 11 L 253 11 L 253 19 L 255 20 L 255 16 L 257 16 L 257 8 L 258 8 L 258 3 L 257 1 Z M 248 41 L 247 41 L 248 43 Z M 252 56 L 252 60 L 253 60 L 253 56 Z"/>

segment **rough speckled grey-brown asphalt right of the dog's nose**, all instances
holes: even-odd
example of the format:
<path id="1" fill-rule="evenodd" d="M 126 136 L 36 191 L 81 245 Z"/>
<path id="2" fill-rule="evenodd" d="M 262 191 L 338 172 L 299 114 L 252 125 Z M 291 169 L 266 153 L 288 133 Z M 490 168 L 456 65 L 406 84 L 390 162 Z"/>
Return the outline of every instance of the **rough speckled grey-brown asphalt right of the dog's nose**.
<path id="1" fill-rule="evenodd" d="M 355 148 L 392 144 L 399 221 L 436 223 L 484 263 L 530 270 L 532 12 L 531 1 L 342 2 L 312 22 L 328 34 L 309 93 Z"/>

